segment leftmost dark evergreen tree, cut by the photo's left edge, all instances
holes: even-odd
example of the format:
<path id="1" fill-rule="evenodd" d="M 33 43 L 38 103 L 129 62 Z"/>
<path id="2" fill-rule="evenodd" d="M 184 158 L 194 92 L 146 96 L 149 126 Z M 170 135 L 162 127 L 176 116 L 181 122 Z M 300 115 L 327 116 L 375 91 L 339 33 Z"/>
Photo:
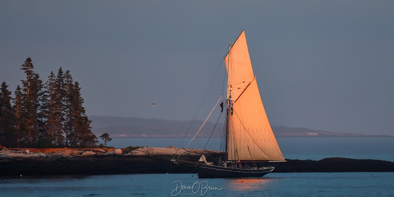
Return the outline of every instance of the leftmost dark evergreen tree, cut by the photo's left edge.
<path id="1" fill-rule="evenodd" d="M 16 117 L 11 106 L 11 92 L 2 82 L 0 88 L 0 144 L 12 146 L 15 142 Z"/>

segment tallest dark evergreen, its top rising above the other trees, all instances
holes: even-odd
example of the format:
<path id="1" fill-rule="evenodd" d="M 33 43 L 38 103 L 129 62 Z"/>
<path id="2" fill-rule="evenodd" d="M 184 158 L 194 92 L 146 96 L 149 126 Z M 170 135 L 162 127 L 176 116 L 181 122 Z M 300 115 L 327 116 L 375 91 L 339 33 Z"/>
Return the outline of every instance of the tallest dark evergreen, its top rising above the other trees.
<path id="1" fill-rule="evenodd" d="M 38 139 L 38 122 L 37 110 L 39 106 L 39 92 L 42 88 L 42 81 L 39 75 L 33 71 L 33 63 L 31 58 L 27 58 L 22 70 L 25 70 L 26 80 L 22 80 L 22 116 L 26 119 L 26 142 L 35 144 Z"/>

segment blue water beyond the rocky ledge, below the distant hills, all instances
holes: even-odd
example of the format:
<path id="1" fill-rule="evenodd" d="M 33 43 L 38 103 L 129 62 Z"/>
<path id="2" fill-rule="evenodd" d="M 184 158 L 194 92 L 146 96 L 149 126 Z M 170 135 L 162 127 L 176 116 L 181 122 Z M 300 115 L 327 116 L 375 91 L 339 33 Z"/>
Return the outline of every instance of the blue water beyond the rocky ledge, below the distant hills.
<path id="1" fill-rule="evenodd" d="M 185 147 L 190 139 L 113 139 L 108 146 Z M 394 162 L 394 138 L 277 138 L 286 159 L 321 160 L 329 157 Z M 208 143 L 207 143 L 208 142 Z M 195 139 L 189 148 L 220 150 L 220 139 Z"/>

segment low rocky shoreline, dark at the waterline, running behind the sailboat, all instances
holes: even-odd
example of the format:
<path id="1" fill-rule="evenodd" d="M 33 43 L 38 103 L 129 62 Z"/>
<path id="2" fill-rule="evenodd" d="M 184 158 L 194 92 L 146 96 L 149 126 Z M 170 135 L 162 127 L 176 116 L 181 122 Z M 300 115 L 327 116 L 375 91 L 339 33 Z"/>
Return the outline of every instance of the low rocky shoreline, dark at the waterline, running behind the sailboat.
<path id="1" fill-rule="evenodd" d="M 102 175 L 130 173 L 189 173 L 193 169 L 170 161 L 183 149 L 145 147 L 117 149 L 1 150 L 0 178 L 5 176 Z M 182 160 L 197 161 L 204 154 L 217 161 L 219 151 L 186 149 Z M 274 172 L 393 172 L 394 162 L 326 158 L 320 161 L 287 160 L 274 164 Z"/>

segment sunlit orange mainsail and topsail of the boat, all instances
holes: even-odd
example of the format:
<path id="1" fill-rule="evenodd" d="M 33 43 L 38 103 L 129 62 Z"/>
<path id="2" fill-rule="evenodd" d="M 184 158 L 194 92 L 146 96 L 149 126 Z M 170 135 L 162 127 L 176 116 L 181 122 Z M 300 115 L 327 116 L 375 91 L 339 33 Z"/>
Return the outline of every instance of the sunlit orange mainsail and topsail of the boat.
<path id="1" fill-rule="evenodd" d="M 228 97 L 232 99 L 228 102 L 229 108 L 232 107 L 229 109 L 228 160 L 284 161 L 264 110 L 244 31 L 232 45 L 225 62 Z"/>

